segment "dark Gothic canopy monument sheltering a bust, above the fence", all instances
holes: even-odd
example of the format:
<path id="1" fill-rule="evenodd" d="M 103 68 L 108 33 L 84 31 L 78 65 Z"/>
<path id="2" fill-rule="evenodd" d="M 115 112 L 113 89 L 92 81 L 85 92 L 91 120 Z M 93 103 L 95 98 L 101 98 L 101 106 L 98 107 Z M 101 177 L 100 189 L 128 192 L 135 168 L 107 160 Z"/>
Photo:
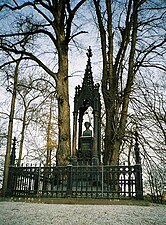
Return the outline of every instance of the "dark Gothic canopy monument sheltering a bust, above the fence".
<path id="1" fill-rule="evenodd" d="M 92 51 L 90 47 L 87 57 L 82 87 L 78 85 L 75 88 L 72 162 L 99 165 L 101 158 L 101 102 L 99 84 L 94 84 L 93 81 L 91 67 Z M 90 130 L 91 124 L 88 121 L 84 121 L 85 112 L 89 107 L 93 110 L 93 131 Z M 82 131 L 83 124 L 86 127 L 84 132 Z"/>

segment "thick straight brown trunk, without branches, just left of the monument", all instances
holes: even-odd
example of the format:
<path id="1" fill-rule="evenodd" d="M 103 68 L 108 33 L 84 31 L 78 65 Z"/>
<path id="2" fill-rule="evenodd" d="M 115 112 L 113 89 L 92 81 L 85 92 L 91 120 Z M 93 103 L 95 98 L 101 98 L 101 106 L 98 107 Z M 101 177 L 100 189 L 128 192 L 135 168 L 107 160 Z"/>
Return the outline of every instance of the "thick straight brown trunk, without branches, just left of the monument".
<path id="1" fill-rule="evenodd" d="M 58 128 L 59 141 L 57 150 L 57 164 L 67 165 L 71 156 L 70 141 L 70 105 L 68 90 L 68 51 L 67 48 L 59 52 L 60 67 L 56 80 L 58 99 Z"/>

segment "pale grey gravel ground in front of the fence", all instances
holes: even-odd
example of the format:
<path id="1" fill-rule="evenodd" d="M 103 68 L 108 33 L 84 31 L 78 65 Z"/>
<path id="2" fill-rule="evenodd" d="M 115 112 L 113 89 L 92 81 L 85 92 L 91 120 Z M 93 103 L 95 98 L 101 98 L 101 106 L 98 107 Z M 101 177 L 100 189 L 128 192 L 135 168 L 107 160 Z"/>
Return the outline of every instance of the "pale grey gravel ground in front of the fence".
<path id="1" fill-rule="evenodd" d="M 32 199 L 31 199 L 32 200 Z M 39 201 L 40 202 L 40 201 Z M 69 204 L 70 203 L 70 204 Z M 77 203 L 77 202 L 76 202 Z M 1 225 L 166 225 L 166 206 L 0 202 Z"/>

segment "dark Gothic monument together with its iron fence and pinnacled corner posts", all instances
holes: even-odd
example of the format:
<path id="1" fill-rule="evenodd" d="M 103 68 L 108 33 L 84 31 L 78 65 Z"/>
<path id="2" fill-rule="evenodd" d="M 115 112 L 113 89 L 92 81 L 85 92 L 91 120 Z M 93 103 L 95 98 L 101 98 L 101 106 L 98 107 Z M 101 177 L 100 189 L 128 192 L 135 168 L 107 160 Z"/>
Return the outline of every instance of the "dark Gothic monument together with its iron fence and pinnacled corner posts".
<path id="1" fill-rule="evenodd" d="M 94 84 L 89 47 L 82 86 L 75 88 L 72 164 L 15 166 L 15 141 L 10 158 L 8 196 L 143 199 L 142 167 L 135 133 L 135 165 L 101 162 L 101 102 Z M 86 112 L 91 109 L 92 119 Z M 84 128 L 85 126 L 85 128 Z"/>

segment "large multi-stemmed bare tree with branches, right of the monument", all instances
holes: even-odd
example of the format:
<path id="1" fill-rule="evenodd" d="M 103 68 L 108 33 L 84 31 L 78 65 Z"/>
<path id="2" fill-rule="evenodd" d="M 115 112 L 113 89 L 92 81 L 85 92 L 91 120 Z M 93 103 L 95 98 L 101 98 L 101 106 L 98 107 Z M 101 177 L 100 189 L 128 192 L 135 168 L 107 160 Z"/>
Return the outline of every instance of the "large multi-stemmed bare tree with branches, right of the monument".
<path id="1" fill-rule="evenodd" d="M 165 69 L 165 7 L 150 0 L 93 2 L 103 56 L 104 163 L 118 164 L 136 74 L 141 67 Z"/>

